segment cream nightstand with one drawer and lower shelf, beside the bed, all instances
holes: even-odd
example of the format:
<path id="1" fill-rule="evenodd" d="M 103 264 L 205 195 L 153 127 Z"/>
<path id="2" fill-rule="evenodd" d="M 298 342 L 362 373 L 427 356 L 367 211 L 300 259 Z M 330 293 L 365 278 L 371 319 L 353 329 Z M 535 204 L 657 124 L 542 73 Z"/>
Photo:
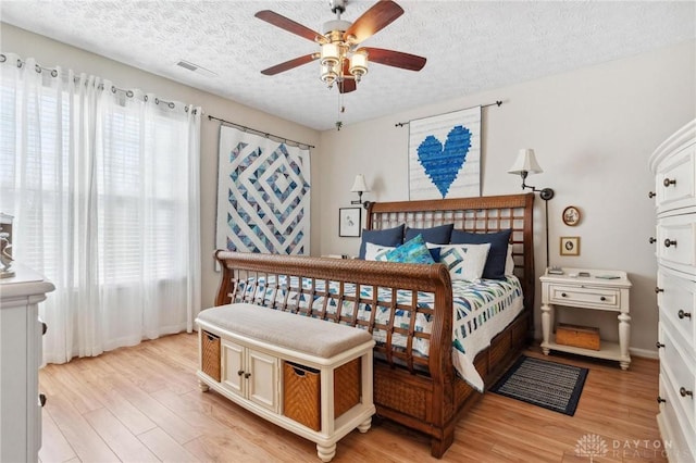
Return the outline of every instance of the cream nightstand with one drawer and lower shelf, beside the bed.
<path id="1" fill-rule="evenodd" d="M 581 275 L 589 276 L 581 276 Z M 622 370 L 631 364 L 629 342 L 631 340 L 631 315 L 629 315 L 629 290 L 631 281 L 621 271 L 588 268 L 563 268 L 562 275 L 550 275 L 547 271 L 542 281 L 542 351 L 570 352 L 597 359 L 616 360 Z M 601 341 L 599 350 L 583 349 L 556 342 L 551 334 L 557 305 L 618 312 L 619 343 Z"/>

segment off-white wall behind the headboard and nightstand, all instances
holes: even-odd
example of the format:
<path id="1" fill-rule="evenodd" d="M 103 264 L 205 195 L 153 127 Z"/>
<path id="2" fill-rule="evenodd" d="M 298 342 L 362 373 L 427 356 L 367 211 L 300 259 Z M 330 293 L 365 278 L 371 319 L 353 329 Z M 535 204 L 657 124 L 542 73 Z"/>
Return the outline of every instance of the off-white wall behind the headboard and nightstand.
<path id="1" fill-rule="evenodd" d="M 408 126 L 397 122 L 502 100 L 483 110 L 482 191 L 520 191 L 520 177 L 506 171 L 520 148 L 533 148 L 543 174 L 527 184 L 550 187 L 550 263 L 629 272 L 632 339 L 635 349 L 655 351 L 657 340 L 656 263 L 648 238 L 655 233 L 654 189 L 647 161 L 670 134 L 696 116 L 694 41 L 630 59 L 420 108 L 321 135 L 321 252 L 357 254 L 359 238 L 338 238 L 338 208 L 357 199 L 349 189 L 356 174 L 372 191 L 363 199 L 408 199 Z M 462 76 L 465 78 L 465 76 Z M 366 82 L 365 82 L 366 85 Z M 348 111 L 350 108 L 348 108 Z M 535 201 L 537 274 L 546 265 L 543 201 Z M 583 220 L 566 226 L 561 211 L 576 205 Z M 580 256 L 559 256 L 559 237 L 580 236 Z M 537 283 L 535 321 L 540 337 Z M 599 326 L 616 339 L 616 315 L 564 311 L 560 321 Z M 645 352 L 643 352 L 645 353 Z"/>

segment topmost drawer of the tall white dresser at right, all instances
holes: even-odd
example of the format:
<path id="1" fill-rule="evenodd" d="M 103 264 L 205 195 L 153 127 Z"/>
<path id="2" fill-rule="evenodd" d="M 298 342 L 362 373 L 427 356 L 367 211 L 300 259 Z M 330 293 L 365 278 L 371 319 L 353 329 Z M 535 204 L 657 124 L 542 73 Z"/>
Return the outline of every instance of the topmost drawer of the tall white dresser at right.
<path id="1" fill-rule="evenodd" d="M 655 175 L 658 211 L 694 204 L 695 153 L 696 146 L 689 145 L 660 162 Z"/>

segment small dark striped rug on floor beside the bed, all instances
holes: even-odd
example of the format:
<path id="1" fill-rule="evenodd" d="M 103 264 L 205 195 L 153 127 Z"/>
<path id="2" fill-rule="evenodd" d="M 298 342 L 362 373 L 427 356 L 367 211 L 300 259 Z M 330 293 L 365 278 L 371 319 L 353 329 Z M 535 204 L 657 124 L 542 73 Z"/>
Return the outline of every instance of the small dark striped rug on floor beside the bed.
<path id="1" fill-rule="evenodd" d="M 573 416 L 587 373 L 580 366 L 522 355 L 490 392 Z"/>

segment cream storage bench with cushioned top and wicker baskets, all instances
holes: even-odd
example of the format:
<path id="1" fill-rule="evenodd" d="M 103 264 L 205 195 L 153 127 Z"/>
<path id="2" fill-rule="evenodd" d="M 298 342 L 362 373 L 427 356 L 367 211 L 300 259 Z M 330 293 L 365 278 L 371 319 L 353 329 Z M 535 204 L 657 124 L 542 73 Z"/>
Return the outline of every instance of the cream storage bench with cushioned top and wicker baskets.
<path id="1" fill-rule="evenodd" d="M 370 333 L 236 303 L 200 312 L 198 378 L 247 410 L 316 443 L 324 461 L 352 429 L 368 431 Z"/>

